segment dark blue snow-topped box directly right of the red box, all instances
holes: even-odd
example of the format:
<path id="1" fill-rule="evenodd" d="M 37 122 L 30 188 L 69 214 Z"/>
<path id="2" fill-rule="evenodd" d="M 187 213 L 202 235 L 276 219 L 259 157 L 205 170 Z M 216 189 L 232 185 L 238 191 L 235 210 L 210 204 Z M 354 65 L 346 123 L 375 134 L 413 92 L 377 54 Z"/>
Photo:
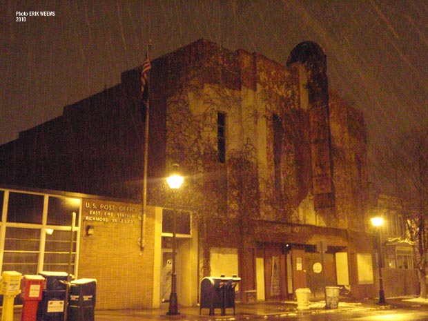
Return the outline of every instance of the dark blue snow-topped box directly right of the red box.
<path id="1" fill-rule="evenodd" d="M 45 288 L 37 306 L 37 321 L 64 321 L 67 294 L 66 272 L 40 272 Z"/>

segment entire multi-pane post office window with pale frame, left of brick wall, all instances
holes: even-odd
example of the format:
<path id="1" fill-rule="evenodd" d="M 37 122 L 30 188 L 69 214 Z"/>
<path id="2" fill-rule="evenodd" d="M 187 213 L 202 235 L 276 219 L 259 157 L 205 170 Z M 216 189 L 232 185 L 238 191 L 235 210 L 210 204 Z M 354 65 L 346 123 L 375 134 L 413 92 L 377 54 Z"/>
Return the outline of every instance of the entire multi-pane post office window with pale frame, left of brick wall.
<path id="1" fill-rule="evenodd" d="M 7 208 L 6 220 L 1 222 L 1 271 L 74 273 L 81 200 L 26 191 L 0 191 L 0 204 L 4 202 Z M 73 212 L 76 226 L 71 232 Z"/>

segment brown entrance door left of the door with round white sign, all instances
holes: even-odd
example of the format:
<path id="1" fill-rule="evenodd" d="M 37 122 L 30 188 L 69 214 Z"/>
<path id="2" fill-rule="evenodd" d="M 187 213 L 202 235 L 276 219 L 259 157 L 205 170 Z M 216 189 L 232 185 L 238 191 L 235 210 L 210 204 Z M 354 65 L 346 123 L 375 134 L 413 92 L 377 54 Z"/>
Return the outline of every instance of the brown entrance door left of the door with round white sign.
<path id="1" fill-rule="evenodd" d="M 285 300 L 286 264 L 280 244 L 264 247 L 264 292 L 267 300 Z"/>

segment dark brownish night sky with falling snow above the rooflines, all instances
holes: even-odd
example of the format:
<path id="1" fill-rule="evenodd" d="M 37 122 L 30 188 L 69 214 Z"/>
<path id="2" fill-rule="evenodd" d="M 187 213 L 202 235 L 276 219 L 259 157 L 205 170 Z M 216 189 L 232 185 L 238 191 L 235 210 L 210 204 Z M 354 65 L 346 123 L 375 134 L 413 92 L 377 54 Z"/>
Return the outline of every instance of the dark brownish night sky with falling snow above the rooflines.
<path id="1" fill-rule="evenodd" d="M 371 158 L 428 119 L 426 0 L 2 0 L 0 8 L 0 144 L 118 84 L 142 65 L 149 39 L 153 58 L 206 38 L 282 64 L 298 43 L 317 42 L 330 88 L 364 112 Z"/>

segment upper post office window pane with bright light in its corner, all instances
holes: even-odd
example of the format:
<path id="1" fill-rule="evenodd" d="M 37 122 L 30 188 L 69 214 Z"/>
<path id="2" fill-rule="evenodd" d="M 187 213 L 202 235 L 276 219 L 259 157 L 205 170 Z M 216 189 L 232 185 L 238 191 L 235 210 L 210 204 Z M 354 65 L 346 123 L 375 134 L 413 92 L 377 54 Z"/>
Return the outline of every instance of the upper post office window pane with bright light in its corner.
<path id="1" fill-rule="evenodd" d="M 72 213 L 79 213 L 81 200 L 71 197 L 53 197 L 48 200 L 48 225 L 71 226 Z M 78 226 L 78 220 L 75 225 Z"/>

